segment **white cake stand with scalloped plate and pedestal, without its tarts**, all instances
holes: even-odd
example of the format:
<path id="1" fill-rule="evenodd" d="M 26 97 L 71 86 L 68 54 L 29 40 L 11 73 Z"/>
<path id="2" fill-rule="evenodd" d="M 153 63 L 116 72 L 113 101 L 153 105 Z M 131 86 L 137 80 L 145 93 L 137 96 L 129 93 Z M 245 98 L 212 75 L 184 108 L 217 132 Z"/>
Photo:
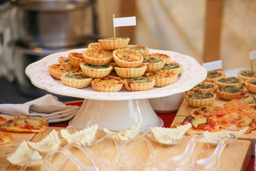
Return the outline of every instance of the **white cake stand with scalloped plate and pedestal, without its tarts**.
<path id="1" fill-rule="evenodd" d="M 85 48 L 80 48 L 72 51 L 84 50 Z M 85 98 L 79 112 L 69 122 L 69 125 L 75 128 L 87 128 L 97 124 L 99 129 L 105 128 L 105 125 L 112 129 L 124 129 L 139 121 L 142 122 L 141 128 L 146 125 L 163 126 L 163 121 L 151 108 L 148 99 L 183 93 L 201 83 L 207 76 L 206 69 L 190 56 L 173 51 L 150 49 L 149 53 L 165 53 L 171 56 L 171 61 L 181 63 L 183 72 L 175 83 L 137 92 L 129 92 L 123 87 L 117 93 L 97 92 L 91 86 L 82 89 L 71 88 L 64 86 L 60 80 L 53 78 L 48 72 L 48 66 L 58 63 L 60 56 L 68 56 L 70 52 L 53 53 L 40 61 L 31 63 L 26 68 L 26 75 L 34 86 L 50 93 Z"/>

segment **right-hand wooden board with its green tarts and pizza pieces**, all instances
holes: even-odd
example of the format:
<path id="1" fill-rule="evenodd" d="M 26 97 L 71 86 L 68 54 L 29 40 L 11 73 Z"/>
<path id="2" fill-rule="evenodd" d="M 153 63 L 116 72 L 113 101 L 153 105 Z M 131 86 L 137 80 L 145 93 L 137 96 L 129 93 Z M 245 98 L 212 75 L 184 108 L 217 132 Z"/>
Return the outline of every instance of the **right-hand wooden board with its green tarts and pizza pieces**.
<path id="1" fill-rule="evenodd" d="M 210 72 L 216 77 L 208 78 Z M 208 76 L 186 93 L 171 128 L 192 123 L 191 134 L 247 129 L 239 139 L 250 140 L 255 155 L 255 71 L 242 70 L 233 77 L 208 71 Z"/>

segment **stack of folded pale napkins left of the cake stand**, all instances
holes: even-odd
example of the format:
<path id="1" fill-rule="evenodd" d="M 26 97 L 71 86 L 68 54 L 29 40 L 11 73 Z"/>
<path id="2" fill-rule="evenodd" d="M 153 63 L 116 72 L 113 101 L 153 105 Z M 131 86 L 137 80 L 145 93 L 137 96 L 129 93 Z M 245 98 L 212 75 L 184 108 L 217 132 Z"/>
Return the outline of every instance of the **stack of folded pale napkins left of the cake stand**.
<path id="1" fill-rule="evenodd" d="M 48 118 L 49 123 L 70 120 L 79 109 L 79 106 L 65 105 L 50 94 L 23 104 L 0 104 L 3 114 Z"/>

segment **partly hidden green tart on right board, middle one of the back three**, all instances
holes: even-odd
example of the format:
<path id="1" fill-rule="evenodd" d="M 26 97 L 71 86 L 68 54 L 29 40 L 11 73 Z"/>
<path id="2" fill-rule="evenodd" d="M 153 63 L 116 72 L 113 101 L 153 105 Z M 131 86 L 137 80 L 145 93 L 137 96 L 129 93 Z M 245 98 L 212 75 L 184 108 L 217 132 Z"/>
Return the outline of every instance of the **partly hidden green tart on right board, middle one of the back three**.
<path id="1" fill-rule="evenodd" d="M 223 77 L 215 81 L 219 87 L 242 86 L 244 81 L 239 77 Z"/>

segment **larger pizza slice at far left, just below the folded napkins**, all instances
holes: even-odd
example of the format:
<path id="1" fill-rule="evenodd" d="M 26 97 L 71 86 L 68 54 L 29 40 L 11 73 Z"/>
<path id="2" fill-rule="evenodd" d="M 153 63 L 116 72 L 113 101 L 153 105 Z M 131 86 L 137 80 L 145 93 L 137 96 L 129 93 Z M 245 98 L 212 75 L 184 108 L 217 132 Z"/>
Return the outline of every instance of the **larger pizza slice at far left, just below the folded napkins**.
<path id="1" fill-rule="evenodd" d="M 3 131 L 39 133 L 46 130 L 47 126 L 42 120 L 29 118 L 27 116 L 14 117 L 14 120 L 8 120 L 0 125 Z"/>

